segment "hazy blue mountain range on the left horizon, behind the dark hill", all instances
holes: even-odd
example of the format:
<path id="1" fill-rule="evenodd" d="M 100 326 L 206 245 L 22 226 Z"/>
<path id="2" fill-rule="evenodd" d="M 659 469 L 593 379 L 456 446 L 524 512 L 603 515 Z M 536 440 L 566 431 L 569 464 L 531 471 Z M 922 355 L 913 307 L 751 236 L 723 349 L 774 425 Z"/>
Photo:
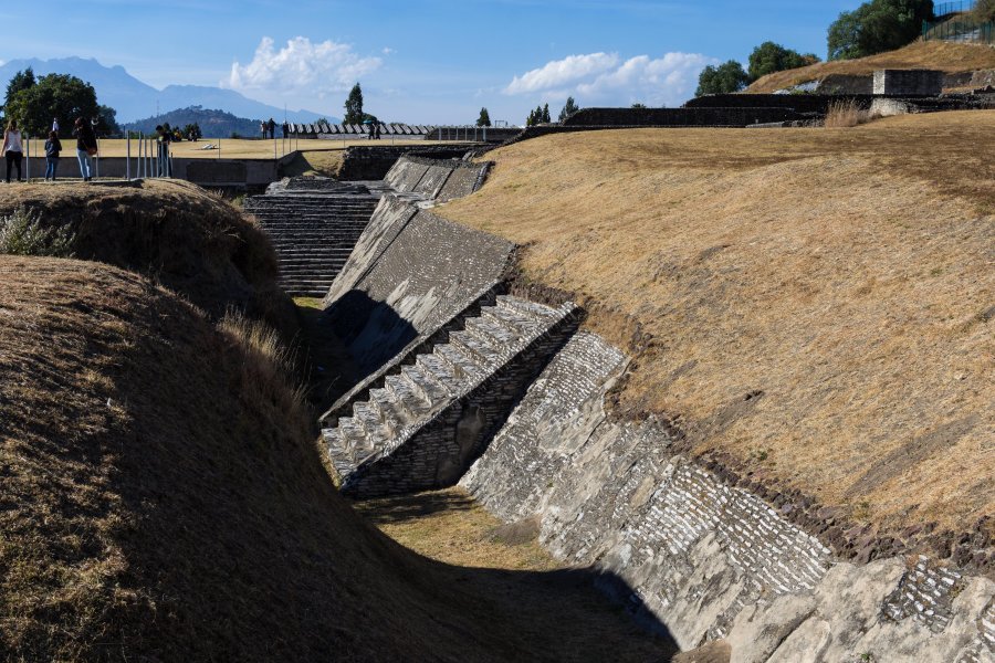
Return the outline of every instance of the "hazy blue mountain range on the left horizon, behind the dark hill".
<path id="1" fill-rule="evenodd" d="M 94 59 L 84 57 L 11 60 L 0 65 L 0 82 L 3 82 L 4 88 L 15 73 L 29 66 L 34 70 L 35 76 L 71 74 L 86 81 L 96 90 L 97 102 L 117 110 L 117 122 L 123 126 L 139 118 L 190 106 L 217 108 L 254 120 L 272 117 L 281 123 L 284 117 L 283 108 L 250 99 L 233 90 L 208 85 L 169 85 L 157 90 L 130 75 L 121 65 L 104 66 Z M 320 117 L 331 123 L 341 122 L 327 113 L 305 109 L 286 112 L 287 122 L 312 123 Z"/>

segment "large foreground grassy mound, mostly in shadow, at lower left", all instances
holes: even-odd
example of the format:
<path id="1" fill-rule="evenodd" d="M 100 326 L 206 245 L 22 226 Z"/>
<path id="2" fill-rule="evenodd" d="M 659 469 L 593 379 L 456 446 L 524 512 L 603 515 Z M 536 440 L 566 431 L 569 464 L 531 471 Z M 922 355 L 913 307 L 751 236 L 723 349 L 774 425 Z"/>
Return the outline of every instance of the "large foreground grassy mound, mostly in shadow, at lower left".
<path id="1" fill-rule="evenodd" d="M 134 273 L 0 256 L 0 659 L 659 656 L 576 588 L 523 596 L 356 517 L 275 347 Z"/>

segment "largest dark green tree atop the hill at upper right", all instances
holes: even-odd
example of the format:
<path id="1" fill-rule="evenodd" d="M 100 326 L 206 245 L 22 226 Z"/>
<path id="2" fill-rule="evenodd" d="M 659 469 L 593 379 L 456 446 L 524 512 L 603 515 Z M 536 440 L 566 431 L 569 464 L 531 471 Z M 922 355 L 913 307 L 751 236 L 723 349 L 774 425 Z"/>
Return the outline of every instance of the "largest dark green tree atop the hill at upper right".
<path id="1" fill-rule="evenodd" d="M 913 42 L 933 19 L 933 0 L 870 0 L 829 25 L 829 60 L 866 57 Z"/>

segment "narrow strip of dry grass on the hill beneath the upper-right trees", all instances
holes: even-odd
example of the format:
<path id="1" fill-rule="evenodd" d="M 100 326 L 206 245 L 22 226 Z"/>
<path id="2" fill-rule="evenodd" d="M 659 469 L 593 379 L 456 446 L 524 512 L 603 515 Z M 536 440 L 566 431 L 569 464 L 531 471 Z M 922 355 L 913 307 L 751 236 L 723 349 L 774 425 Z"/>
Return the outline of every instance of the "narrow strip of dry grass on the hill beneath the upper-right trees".
<path id="1" fill-rule="evenodd" d="M 995 48 L 983 44 L 915 42 L 904 49 L 859 60 L 820 62 L 757 80 L 746 92 L 769 93 L 830 74 L 863 75 L 879 69 L 935 69 L 949 74 L 995 69 Z"/>

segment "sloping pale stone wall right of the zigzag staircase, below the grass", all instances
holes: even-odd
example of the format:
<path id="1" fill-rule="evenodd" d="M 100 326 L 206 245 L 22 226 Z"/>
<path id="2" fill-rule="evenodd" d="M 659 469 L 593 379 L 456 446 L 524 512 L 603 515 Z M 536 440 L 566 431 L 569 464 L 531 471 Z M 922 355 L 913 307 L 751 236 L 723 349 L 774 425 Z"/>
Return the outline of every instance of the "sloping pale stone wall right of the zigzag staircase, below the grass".
<path id="1" fill-rule="evenodd" d="M 995 583 L 922 560 L 838 562 L 674 455 L 666 425 L 611 421 L 603 399 L 625 364 L 576 335 L 461 485 L 505 520 L 537 522 L 558 558 L 621 578 L 605 589 L 684 649 L 724 638 L 733 661 L 991 660 Z"/>

